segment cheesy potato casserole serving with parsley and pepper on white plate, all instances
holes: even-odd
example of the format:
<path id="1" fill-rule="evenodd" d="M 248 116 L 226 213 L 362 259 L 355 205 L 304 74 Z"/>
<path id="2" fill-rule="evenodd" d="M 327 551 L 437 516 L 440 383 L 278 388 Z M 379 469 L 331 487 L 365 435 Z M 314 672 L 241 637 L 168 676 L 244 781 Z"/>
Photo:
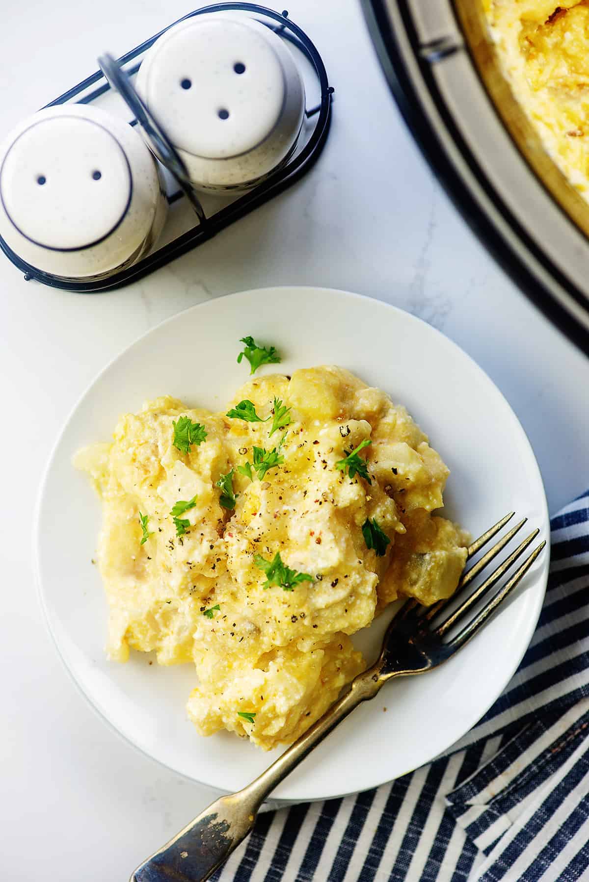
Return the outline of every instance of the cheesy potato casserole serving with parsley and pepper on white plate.
<path id="1" fill-rule="evenodd" d="M 148 401 L 76 464 L 102 496 L 109 657 L 193 662 L 202 735 L 291 742 L 364 668 L 351 634 L 397 597 L 448 597 L 464 567 L 465 534 L 432 513 L 447 467 L 343 368 L 253 377 L 221 413 Z"/>

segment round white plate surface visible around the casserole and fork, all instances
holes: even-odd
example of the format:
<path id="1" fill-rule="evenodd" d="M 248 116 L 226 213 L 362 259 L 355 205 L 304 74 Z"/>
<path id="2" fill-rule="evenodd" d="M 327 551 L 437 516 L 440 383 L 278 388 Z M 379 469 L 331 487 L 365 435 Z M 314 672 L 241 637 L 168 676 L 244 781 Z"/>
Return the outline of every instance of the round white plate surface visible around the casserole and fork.
<path id="1" fill-rule="evenodd" d="M 549 539 L 540 472 L 516 415 L 464 352 L 418 318 L 342 291 L 267 288 L 196 306 L 134 343 L 79 400 L 49 461 L 37 521 L 42 602 L 66 666 L 102 716 L 165 766 L 224 790 L 251 781 L 277 751 L 226 732 L 200 737 L 185 717 L 195 681 L 189 665 L 160 668 L 140 653 L 124 665 L 105 660 L 106 602 L 91 563 L 101 506 L 71 460 L 82 445 L 108 440 L 118 416 L 148 398 L 169 393 L 191 406 L 223 407 L 248 376 L 248 366 L 236 362 L 245 334 L 283 354 L 280 366 L 264 372 L 340 364 L 404 403 L 451 469 L 446 512 L 472 534 L 515 509 Z M 388 684 L 359 707 L 275 796 L 320 799 L 372 788 L 462 736 L 528 646 L 547 565 L 545 553 L 513 601 L 447 665 Z"/>

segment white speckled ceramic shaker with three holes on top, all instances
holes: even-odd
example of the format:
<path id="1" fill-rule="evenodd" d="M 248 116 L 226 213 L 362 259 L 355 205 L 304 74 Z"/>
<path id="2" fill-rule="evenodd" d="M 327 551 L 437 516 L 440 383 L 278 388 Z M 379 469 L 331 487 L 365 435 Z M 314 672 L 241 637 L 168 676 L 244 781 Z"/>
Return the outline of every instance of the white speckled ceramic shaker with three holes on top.
<path id="1" fill-rule="evenodd" d="M 137 91 L 200 190 L 246 190 L 288 159 L 305 111 L 290 49 L 253 19 L 218 12 L 170 28 Z"/>

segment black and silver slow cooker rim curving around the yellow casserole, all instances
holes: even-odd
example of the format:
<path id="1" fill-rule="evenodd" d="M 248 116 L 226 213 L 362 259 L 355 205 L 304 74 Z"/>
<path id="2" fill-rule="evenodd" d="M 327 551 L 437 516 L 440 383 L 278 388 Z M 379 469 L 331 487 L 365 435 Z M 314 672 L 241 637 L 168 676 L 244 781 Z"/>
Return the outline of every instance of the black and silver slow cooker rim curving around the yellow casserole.
<path id="1" fill-rule="evenodd" d="M 481 0 L 362 0 L 396 102 L 480 240 L 589 355 L 589 205 L 502 73 Z"/>

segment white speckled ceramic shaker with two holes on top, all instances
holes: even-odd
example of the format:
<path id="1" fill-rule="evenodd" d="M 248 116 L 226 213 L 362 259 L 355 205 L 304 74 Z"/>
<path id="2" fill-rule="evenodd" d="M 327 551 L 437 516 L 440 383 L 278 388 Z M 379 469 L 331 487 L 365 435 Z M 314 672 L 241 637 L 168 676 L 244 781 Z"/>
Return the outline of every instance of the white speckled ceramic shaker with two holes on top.
<path id="1" fill-rule="evenodd" d="M 45 273 L 108 277 L 160 234 L 162 188 L 152 154 L 123 120 L 82 104 L 46 108 L 0 146 L 0 235 Z"/>

